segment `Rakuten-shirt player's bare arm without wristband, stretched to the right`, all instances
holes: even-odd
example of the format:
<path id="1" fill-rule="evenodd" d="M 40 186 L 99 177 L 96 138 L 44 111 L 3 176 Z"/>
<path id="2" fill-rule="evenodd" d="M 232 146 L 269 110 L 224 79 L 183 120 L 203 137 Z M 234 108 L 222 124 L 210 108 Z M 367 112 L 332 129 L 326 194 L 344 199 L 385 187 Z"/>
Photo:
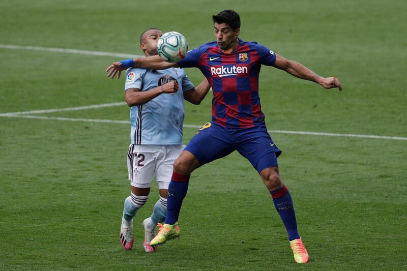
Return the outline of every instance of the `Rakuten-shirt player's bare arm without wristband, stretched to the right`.
<path id="1" fill-rule="evenodd" d="M 339 91 L 342 91 L 342 86 L 338 78 L 319 76 L 298 62 L 287 60 L 278 54 L 276 56 L 277 58 L 274 64 L 276 68 L 284 70 L 295 77 L 318 83 L 325 88 L 337 87 Z"/>

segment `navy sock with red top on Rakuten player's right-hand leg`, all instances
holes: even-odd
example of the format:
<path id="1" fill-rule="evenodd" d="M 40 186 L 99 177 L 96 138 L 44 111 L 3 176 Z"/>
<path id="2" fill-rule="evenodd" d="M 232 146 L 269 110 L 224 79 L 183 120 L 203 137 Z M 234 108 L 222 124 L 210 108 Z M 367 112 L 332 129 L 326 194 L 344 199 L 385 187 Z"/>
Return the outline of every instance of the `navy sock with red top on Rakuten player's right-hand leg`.
<path id="1" fill-rule="evenodd" d="M 294 212 L 293 199 L 291 198 L 288 189 L 283 185 L 282 187 L 270 191 L 270 194 L 274 201 L 274 206 L 288 233 L 288 240 L 300 238 L 300 234 L 297 229 L 296 213 Z"/>

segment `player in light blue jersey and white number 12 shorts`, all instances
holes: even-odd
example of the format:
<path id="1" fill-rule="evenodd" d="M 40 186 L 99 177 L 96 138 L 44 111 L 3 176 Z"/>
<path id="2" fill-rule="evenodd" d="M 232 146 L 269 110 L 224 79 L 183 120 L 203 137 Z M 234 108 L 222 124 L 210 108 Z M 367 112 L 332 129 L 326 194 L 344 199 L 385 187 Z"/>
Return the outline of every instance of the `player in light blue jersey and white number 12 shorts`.
<path id="1" fill-rule="evenodd" d="M 140 47 L 146 56 L 157 54 L 157 41 L 161 35 L 157 28 L 147 29 L 141 34 Z M 144 219 L 142 225 L 144 250 L 156 250 L 155 246 L 150 246 L 150 241 L 155 236 L 157 224 L 165 220 L 172 166 L 185 147 L 182 145 L 184 99 L 199 104 L 209 89 L 207 79 L 195 88 L 180 68 L 127 70 L 125 96 L 131 106 L 131 144 L 127 167 L 131 196 L 124 202 L 120 231 L 120 242 L 125 250 L 133 247 L 133 218 L 149 198 L 154 174 L 160 199 L 155 203 L 151 217 Z"/>

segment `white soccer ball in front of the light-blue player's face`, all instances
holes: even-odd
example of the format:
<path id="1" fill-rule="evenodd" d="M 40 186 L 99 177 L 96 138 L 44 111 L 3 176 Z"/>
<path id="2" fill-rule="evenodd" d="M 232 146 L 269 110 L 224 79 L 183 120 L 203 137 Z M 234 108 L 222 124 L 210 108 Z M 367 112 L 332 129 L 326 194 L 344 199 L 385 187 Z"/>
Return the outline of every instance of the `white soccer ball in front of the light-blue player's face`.
<path id="1" fill-rule="evenodd" d="M 178 32 L 164 33 L 157 43 L 157 53 L 163 61 L 179 62 L 187 55 L 188 42 Z"/>

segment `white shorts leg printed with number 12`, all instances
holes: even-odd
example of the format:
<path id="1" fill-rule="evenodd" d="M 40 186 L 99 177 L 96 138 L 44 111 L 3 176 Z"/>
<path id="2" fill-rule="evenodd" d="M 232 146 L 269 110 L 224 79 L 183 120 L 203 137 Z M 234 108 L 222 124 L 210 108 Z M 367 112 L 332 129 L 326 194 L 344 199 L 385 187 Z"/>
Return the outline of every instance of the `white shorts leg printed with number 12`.
<path id="1" fill-rule="evenodd" d="M 154 145 L 130 146 L 127 154 L 127 166 L 131 186 L 139 188 L 151 187 L 159 151 L 159 146 Z"/>

